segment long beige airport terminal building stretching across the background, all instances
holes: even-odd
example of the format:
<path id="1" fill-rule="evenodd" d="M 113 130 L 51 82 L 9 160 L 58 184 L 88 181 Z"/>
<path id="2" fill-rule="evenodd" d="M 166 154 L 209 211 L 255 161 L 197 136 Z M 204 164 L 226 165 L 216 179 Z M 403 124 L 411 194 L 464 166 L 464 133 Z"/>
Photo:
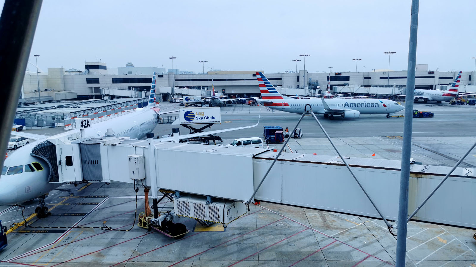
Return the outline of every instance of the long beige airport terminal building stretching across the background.
<path id="1" fill-rule="evenodd" d="M 104 62 L 86 62 L 86 71 L 77 69 L 48 68 L 48 73 L 26 73 L 20 104 L 67 99 L 101 98 L 102 95 L 144 97 L 150 90 L 152 73 L 157 75 L 157 87 L 202 89 L 202 95 L 209 95 L 207 87 L 212 83 L 215 89 L 230 96 L 258 96 L 259 89 L 255 71 L 210 71 L 208 74 L 167 74 L 159 67 L 125 67 L 119 75 L 108 73 Z M 136 74 L 137 73 L 137 74 Z M 139 74 L 140 73 L 140 74 Z M 147 74 L 145 74 L 147 73 Z M 441 89 L 451 84 L 458 72 L 441 72 L 428 69 L 427 65 L 417 65 L 415 87 L 417 89 Z M 407 82 L 406 71 L 371 72 L 308 72 L 265 73 L 274 86 L 281 88 L 283 94 L 309 95 L 324 92 L 328 86 L 332 92 L 343 92 L 342 86 L 395 87 L 404 88 Z M 462 85 L 471 85 L 476 73 L 463 71 Z M 40 89 L 38 88 L 38 79 Z M 212 82 L 213 79 L 213 82 Z M 336 86 L 340 86 L 337 90 Z M 296 90 L 300 88 L 302 90 Z M 109 89 L 109 90 L 108 90 Z M 112 90 L 114 89 L 114 90 Z M 294 89 L 294 90 L 292 90 Z M 320 92 L 319 92 L 320 90 Z M 302 92 L 301 92 L 302 91 Z M 385 91 L 385 90 L 384 90 Z M 461 89 L 460 89 L 461 91 Z M 170 89 L 160 91 L 162 100 L 169 99 Z M 401 92 L 401 90 L 400 90 Z M 176 93 L 177 92 L 176 90 Z M 370 92 L 369 92 L 370 93 Z M 387 92 L 388 93 L 388 92 Z M 395 92 L 393 92 L 395 93 Z"/>

